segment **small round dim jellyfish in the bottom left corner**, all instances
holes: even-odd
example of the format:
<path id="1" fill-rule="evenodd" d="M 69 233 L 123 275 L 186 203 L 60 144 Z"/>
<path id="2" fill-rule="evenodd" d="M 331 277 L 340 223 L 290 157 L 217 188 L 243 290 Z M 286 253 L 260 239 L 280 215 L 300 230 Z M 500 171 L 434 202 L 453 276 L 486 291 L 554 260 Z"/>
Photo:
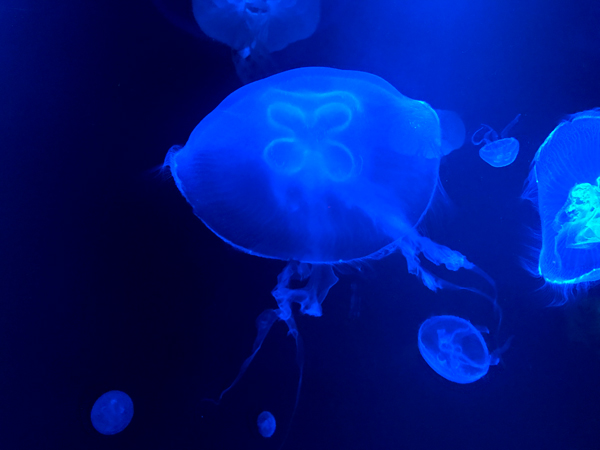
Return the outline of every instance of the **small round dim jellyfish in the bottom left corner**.
<path id="1" fill-rule="evenodd" d="M 133 402 L 121 391 L 108 391 L 92 406 L 92 425 L 102 434 L 117 434 L 127 428 L 133 417 Z"/>

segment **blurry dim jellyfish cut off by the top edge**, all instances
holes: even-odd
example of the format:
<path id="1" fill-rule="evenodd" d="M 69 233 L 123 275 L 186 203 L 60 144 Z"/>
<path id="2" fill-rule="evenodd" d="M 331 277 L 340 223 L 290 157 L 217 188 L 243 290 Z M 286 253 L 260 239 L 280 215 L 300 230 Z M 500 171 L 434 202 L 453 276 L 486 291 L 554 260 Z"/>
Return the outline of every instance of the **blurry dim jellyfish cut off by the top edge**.
<path id="1" fill-rule="evenodd" d="M 236 52 L 244 82 L 264 76 L 253 74 L 253 66 L 268 65 L 269 53 L 311 36 L 320 15 L 320 0 L 193 0 L 192 6 L 202 31 Z"/>

